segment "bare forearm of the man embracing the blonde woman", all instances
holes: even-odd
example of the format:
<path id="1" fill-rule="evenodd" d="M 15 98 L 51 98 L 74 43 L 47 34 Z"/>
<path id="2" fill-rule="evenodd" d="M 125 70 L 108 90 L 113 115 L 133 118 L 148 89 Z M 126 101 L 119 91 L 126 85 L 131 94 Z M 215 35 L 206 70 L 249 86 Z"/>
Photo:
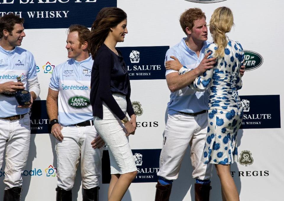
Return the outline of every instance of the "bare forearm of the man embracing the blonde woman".
<path id="1" fill-rule="evenodd" d="M 192 83 L 199 74 L 199 71 L 196 69 L 193 69 L 183 75 L 179 75 L 178 72 L 170 73 L 166 76 L 168 87 L 171 92 L 183 89 Z"/>

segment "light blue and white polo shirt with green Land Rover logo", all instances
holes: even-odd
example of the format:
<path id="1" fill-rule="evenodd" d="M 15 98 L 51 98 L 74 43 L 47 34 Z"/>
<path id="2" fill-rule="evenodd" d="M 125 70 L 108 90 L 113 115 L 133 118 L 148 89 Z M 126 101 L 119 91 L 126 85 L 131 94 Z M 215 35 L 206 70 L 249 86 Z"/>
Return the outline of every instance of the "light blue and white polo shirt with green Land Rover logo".
<path id="1" fill-rule="evenodd" d="M 78 62 L 69 59 L 56 66 L 49 88 L 59 91 L 58 121 L 68 126 L 93 119 L 90 102 L 92 57 Z"/>

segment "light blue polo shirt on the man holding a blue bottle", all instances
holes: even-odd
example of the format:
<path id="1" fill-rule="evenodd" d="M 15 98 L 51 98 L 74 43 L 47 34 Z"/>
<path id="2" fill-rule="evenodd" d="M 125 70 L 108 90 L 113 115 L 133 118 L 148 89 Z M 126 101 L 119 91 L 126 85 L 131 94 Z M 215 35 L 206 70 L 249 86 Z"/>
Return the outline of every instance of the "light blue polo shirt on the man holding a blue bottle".
<path id="1" fill-rule="evenodd" d="M 21 76 L 22 83 L 27 89 L 27 83 L 37 78 L 36 64 L 33 54 L 20 47 L 7 51 L 0 46 L 0 84 L 13 81 Z M 14 93 L 0 94 L 0 117 L 11 117 L 29 112 L 30 108 L 18 108 Z"/>

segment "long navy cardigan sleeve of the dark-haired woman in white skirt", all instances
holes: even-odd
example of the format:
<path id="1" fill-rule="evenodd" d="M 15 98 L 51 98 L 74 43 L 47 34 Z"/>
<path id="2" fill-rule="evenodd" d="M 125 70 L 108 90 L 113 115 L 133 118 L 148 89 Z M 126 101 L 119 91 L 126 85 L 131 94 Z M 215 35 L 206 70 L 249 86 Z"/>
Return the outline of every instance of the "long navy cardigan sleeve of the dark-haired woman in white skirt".
<path id="1" fill-rule="evenodd" d="M 101 52 L 98 59 L 99 67 L 99 95 L 110 110 L 120 119 L 125 118 L 125 113 L 121 110 L 110 90 L 111 71 L 113 67 L 112 55 Z M 111 57 L 111 58 L 110 58 Z"/>

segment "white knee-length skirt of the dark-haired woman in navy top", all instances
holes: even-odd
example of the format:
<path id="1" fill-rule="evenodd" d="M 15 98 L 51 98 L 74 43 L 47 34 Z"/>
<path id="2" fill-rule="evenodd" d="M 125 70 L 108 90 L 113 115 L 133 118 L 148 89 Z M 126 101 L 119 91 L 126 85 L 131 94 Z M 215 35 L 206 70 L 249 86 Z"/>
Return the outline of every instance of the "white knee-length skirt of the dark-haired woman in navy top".
<path id="1" fill-rule="evenodd" d="M 126 99 L 121 94 L 112 94 L 119 107 L 126 113 Z M 109 150 L 110 173 L 125 174 L 137 171 L 133 154 L 125 136 L 121 120 L 103 102 L 103 118 L 94 117 L 94 126 Z"/>

